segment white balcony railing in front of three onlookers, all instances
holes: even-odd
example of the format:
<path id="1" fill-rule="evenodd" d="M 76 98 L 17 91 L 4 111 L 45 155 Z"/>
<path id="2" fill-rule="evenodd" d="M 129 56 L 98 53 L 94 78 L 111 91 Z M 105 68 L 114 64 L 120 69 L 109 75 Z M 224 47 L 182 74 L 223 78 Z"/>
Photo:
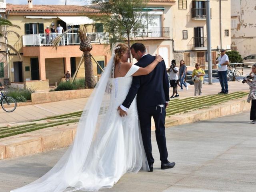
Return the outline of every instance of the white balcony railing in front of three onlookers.
<path id="1" fill-rule="evenodd" d="M 23 35 L 23 46 L 53 46 L 53 41 L 60 34 L 31 34 Z M 108 43 L 108 33 L 87 33 L 87 37 L 93 44 L 106 44 Z M 77 33 L 65 34 L 60 45 L 78 45 L 80 44 L 80 38 Z"/>

